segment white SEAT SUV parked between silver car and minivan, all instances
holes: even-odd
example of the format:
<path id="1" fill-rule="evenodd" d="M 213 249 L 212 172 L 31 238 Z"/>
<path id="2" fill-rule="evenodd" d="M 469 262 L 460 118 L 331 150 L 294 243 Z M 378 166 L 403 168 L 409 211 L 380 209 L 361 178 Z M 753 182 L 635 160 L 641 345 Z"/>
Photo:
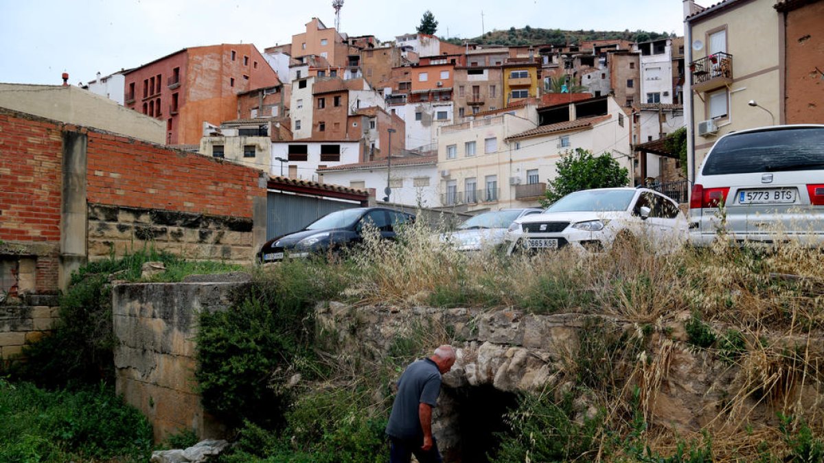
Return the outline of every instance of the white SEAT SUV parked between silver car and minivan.
<path id="1" fill-rule="evenodd" d="M 620 236 L 672 250 L 686 233 L 686 217 L 667 196 L 646 188 L 602 188 L 567 194 L 544 213 L 517 219 L 507 241 L 510 254 L 564 247 L 597 252 Z"/>

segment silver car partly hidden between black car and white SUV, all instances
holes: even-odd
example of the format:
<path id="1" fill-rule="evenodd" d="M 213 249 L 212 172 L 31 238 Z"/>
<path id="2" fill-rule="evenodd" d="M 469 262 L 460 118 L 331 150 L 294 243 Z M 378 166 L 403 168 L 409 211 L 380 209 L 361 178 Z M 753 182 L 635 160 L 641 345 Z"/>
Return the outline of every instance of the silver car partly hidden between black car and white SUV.
<path id="1" fill-rule="evenodd" d="M 466 219 L 454 232 L 441 233 L 438 237 L 457 250 L 496 249 L 503 245 L 507 229 L 515 219 L 542 212 L 544 209 L 512 208 L 480 213 Z"/>

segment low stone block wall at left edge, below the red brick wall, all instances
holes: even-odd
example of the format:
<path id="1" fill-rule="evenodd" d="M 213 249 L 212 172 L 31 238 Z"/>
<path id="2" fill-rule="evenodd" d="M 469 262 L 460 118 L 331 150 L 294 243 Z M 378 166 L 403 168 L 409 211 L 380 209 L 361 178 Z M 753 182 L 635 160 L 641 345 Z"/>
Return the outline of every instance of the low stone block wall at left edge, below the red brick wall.
<path id="1" fill-rule="evenodd" d="M 58 298 L 25 294 L 0 302 L 0 359 L 21 354 L 23 345 L 47 334 L 59 316 Z"/>

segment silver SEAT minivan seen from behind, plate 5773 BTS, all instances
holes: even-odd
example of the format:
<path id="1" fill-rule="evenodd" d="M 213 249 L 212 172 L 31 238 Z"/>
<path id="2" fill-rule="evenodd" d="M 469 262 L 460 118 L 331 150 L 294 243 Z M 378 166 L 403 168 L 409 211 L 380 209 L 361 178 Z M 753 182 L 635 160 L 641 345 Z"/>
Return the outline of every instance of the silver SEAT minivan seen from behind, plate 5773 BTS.
<path id="1" fill-rule="evenodd" d="M 709 150 L 690 199 L 690 242 L 824 243 L 824 125 L 728 133 Z"/>

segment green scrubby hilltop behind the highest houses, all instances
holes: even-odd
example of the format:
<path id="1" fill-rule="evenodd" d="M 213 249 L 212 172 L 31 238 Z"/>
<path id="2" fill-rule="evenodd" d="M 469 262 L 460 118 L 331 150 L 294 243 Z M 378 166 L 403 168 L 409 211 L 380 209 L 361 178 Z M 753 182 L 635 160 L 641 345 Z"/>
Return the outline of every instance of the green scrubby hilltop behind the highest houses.
<path id="1" fill-rule="evenodd" d="M 449 38 L 446 40 L 451 44 L 461 45 L 466 41 L 475 44 L 499 44 L 499 45 L 538 45 L 538 44 L 580 44 L 583 40 L 610 40 L 624 39 L 634 42 L 645 42 L 657 40 L 659 38 L 674 37 L 667 32 L 647 32 L 645 30 L 624 30 L 604 31 L 604 30 L 560 30 L 560 29 L 540 29 L 525 26 L 523 29 L 510 27 L 509 30 L 491 30 L 486 34 L 474 39 Z"/>

